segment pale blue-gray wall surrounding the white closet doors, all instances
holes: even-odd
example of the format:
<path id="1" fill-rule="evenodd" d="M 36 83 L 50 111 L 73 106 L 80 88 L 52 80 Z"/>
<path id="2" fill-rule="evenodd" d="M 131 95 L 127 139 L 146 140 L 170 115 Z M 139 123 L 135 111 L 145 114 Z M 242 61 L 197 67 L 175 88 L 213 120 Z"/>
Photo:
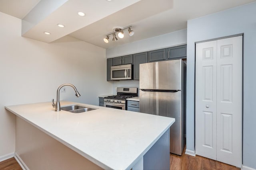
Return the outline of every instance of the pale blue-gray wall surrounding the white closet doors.
<path id="1" fill-rule="evenodd" d="M 244 33 L 243 165 L 256 168 L 256 2 L 188 21 L 187 149 L 194 150 L 195 42 Z M 235 146 L 234 146 L 235 147 Z"/>

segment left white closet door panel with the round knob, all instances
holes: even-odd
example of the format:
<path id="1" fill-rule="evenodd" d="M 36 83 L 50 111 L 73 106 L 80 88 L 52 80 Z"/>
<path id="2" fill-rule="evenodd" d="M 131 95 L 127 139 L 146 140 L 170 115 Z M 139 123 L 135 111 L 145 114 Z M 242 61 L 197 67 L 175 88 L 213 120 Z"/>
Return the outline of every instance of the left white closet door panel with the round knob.
<path id="1" fill-rule="evenodd" d="M 216 160 L 217 41 L 196 44 L 196 154 Z"/>

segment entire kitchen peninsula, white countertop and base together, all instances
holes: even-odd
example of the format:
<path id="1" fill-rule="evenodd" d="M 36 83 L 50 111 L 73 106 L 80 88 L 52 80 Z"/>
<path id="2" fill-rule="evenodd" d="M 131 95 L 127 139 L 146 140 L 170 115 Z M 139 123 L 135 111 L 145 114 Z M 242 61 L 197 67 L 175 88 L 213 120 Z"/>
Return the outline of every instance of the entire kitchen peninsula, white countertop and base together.
<path id="1" fill-rule="evenodd" d="M 94 110 L 54 111 L 51 102 L 5 107 L 16 115 L 15 154 L 25 169 L 169 169 L 175 119 L 60 102 L 74 104 Z"/>

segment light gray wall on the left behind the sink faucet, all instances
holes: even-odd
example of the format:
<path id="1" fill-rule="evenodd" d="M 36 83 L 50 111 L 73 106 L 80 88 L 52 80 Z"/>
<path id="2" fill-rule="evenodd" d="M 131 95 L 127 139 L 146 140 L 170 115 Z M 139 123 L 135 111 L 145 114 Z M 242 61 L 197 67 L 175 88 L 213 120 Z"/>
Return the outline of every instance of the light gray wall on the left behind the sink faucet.
<path id="1" fill-rule="evenodd" d="M 60 100 L 98 105 L 112 93 L 106 81 L 106 50 L 64 37 L 43 43 L 21 37 L 21 20 L 0 12 L 0 162 L 15 151 L 15 116 L 4 106 L 56 100 L 58 86 L 74 84 Z"/>

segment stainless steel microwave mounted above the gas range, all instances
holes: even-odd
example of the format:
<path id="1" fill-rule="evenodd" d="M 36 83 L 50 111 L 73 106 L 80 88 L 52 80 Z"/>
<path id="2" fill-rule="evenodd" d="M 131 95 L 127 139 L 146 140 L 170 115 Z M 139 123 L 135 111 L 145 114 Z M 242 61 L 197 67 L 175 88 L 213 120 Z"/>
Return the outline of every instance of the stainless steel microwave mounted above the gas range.
<path id="1" fill-rule="evenodd" d="M 111 80 L 132 80 L 132 64 L 111 66 Z"/>

